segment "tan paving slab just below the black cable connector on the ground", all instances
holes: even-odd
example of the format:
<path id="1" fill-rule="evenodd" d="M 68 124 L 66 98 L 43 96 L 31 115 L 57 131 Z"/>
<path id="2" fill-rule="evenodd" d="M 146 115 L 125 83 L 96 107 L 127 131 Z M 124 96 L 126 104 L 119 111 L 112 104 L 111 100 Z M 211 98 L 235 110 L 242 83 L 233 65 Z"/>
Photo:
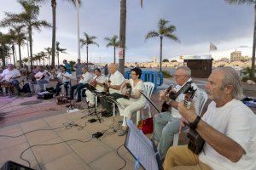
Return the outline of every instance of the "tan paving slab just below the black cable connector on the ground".
<path id="1" fill-rule="evenodd" d="M 70 146 L 86 163 L 96 161 L 96 159 L 111 151 L 108 146 L 97 139 L 91 139 L 90 142 L 86 143 L 77 142 Z"/>

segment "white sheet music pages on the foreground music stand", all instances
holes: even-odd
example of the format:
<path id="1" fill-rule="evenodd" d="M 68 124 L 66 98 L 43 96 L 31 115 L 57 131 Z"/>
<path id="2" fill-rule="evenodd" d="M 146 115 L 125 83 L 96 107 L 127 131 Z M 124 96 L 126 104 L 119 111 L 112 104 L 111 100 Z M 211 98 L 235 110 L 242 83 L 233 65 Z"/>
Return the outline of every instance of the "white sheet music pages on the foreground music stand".
<path id="1" fill-rule="evenodd" d="M 131 154 L 140 161 L 147 170 L 158 170 L 159 165 L 154 153 L 152 142 L 143 134 L 143 132 L 131 122 L 127 121 L 129 132 L 126 136 L 125 146 L 131 151 Z"/>

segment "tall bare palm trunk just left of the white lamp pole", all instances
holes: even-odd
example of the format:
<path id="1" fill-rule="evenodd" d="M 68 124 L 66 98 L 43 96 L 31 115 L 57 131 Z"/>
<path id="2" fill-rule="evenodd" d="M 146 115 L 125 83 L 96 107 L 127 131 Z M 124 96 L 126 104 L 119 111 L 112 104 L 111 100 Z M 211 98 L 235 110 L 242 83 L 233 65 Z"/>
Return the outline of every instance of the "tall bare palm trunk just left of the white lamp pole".
<path id="1" fill-rule="evenodd" d="M 52 7 L 52 41 L 51 41 L 51 66 L 55 68 L 55 37 L 56 37 L 56 1 L 51 0 Z M 58 61 L 59 65 L 59 61 Z"/>

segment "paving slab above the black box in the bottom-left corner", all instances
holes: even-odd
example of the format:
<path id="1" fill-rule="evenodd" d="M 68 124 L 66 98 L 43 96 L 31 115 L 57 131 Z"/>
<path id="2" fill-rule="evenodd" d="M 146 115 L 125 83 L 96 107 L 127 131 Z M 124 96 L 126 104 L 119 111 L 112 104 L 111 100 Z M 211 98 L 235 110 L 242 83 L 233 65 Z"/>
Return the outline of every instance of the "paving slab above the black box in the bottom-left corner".
<path id="1" fill-rule="evenodd" d="M 3 165 L 3 163 L 6 161 L 15 161 L 28 167 L 28 163 L 20 159 L 20 154 L 28 147 L 29 145 L 24 143 L 17 144 L 14 147 L 8 148 L 6 150 L 0 150 L 0 165 Z M 26 152 L 22 155 L 22 158 L 30 161 L 32 167 L 37 166 L 37 162 L 35 161 L 35 157 L 33 156 L 31 149 L 26 150 Z"/>

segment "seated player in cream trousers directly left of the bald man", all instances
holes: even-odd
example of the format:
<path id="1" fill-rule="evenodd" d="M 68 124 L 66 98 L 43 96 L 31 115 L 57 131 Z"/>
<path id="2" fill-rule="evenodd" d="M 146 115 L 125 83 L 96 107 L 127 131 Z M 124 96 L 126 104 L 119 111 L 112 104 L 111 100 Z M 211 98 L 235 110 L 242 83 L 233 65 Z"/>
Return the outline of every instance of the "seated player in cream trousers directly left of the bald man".
<path id="1" fill-rule="evenodd" d="M 100 69 L 96 68 L 94 70 L 95 77 L 92 78 L 90 81 L 90 85 L 96 88 L 97 91 L 102 92 L 104 87 L 103 83 L 106 82 L 106 77 L 102 75 L 102 72 Z M 89 107 L 93 107 L 95 105 L 95 96 L 90 90 L 85 91 L 86 97 L 89 100 Z"/>

